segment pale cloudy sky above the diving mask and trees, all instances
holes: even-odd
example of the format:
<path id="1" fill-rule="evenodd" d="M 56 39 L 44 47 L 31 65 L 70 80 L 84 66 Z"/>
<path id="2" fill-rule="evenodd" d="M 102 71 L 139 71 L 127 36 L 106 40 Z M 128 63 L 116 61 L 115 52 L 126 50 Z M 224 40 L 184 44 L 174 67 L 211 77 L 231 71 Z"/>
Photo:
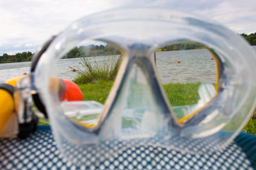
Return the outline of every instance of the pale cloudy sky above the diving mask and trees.
<path id="1" fill-rule="evenodd" d="M 0 0 L 0 55 L 35 52 L 71 22 L 124 6 L 164 6 L 209 18 L 239 34 L 256 32 L 255 0 Z"/>

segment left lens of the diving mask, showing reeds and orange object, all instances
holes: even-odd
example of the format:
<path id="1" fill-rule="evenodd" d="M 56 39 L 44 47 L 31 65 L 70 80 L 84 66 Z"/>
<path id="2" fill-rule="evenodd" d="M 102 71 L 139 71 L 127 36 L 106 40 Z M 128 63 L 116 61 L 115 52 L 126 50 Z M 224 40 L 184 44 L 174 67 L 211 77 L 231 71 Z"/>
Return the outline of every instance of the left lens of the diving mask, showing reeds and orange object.
<path id="1" fill-rule="evenodd" d="M 58 99 L 68 118 L 93 127 L 115 80 L 122 53 L 102 41 L 86 41 L 58 60 Z"/>

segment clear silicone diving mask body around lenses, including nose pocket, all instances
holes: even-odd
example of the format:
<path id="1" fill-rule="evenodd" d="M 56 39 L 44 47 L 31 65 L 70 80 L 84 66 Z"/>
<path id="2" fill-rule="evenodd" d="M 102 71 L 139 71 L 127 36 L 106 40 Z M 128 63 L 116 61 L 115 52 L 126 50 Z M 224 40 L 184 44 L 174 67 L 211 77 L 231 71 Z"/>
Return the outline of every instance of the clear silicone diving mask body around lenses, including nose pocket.
<path id="1" fill-rule="evenodd" d="M 177 42 L 204 45 L 216 60 L 218 73 L 213 92 L 212 85 L 202 87 L 210 89 L 211 99 L 195 110 L 184 106 L 181 116 L 180 108 L 168 102 L 154 61 L 157 49 Z M 90 44 L 111 45 L 122 57 L 106 103 L 60 101 L 54 63 L 81 46 L 83 55 L 91 56 Z M 109 154 L 137 146 L 204 153 L 227 145 L 250 118 L 255 63 L 255 52 L 244 39 L 222 25 L 163 8 L 127 8 L 69 25 L 39 60 L 35 85 L 58 147 L 77 162 L 85 162 L 83 155 L 88 153 L 103 151 L 108 154 L 98 156 L 108 159 Z"/>

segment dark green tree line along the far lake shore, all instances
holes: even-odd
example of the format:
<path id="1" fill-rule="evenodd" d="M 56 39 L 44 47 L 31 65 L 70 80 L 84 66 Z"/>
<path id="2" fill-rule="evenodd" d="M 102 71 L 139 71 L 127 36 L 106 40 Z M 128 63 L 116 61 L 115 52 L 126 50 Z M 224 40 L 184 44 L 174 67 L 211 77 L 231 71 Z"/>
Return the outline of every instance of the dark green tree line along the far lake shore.
<path id="1" fill-rule="evenodd" d="M 241 36 L 243 36 L 248 41 L 248 43 L 250 43 L 250 45 L 256 45 L 256 32 L 249 35 L 243 33 Z M 201 43 L 184 41 L 163 46 L 157 51 L 189 50 L 196 48 L 205 48 L 205 46 Z M 31 52 L 16 53 L 14 55 L 8 55 L 7 53 L 4 53 L 2 56 L 0 56 L 0 63 L 30 61 L 33 54 L 34 53 Z M 115 48 L 113 45 L 88 45 L 73 48 L 70 50 L 70 52 L 67 53 L 67 55 L 63 57 L 63 59 L 118 54 L 121 54 L 121 51 L 118 48 Z"/>

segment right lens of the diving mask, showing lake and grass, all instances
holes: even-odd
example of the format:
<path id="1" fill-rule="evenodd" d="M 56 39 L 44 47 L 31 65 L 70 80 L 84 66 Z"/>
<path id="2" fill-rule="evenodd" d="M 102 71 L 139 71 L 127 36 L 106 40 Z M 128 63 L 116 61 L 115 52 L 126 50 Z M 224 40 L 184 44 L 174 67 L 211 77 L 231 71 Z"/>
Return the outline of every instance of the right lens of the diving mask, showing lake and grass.
<path id="1" fill-rule="evenodd" d="M 173 110 L 186 121 L 216 93 L 216 62 L 205 45 L 182 41 L 156 50 L 156 66 Z"/>

